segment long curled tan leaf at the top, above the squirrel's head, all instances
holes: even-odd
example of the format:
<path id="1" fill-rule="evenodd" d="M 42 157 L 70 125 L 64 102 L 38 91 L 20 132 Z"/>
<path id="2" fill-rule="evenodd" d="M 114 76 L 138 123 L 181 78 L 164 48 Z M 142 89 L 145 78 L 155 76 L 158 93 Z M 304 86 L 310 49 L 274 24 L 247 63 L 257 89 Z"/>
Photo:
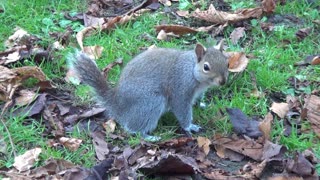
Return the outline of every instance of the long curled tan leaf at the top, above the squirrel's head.
<path id="1" fill-rule="evenodd" d="M 234 13 L 228 13 L 223 11 L 218 11 L 211 4 L 209 9 L 206 11 L 201 11 L 196 9 L 191 16 L 199 18 L 214 24 L 225 24 L 225 23 L 235 23 L 248 18 L 258 18 L 262 15 L 262 8 L 250 8 L 243 9 Z"/>

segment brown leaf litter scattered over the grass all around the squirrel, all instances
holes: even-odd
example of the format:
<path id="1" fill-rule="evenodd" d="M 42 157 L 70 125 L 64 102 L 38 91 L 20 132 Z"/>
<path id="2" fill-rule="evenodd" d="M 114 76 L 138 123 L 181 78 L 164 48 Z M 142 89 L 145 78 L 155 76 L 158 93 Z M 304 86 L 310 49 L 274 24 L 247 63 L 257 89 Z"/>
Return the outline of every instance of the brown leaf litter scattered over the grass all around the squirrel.
<path id="1" fill-rule="evenodd" d="M 99 45 L 85 47 L 83 39 L 89 36 L 97 29 L 102 31 L 112 30 L 116 24 L 123 24 L 130 20 L 134 20 L 139 16 L 140 12 L 145 11 L 144 8 L 156 10 L 160 4 L 157 0 L 145 0 L 135 4 L 136 1 L 97 1 L 89 2 L 88 12 L 80 14 L 77 17 L 68 18 L 73 20 L 83 20 L 86 28 L 77 34 L 77 41 L 81 49 L 95 58 L 99 58 L 103 49 Z M 160 1 L 166 6 L 172 6 L 174 1 Z M 171 37 L 178 38 L 182 35 L 196 32 L 212 33 L 213 36 L 223 32 L 224 27 L 239 21 L 250 18 L 260 18 L 263 13 L 272 14 L 275 9 L 275 2 L 272 0 L 264 0 L 261 7 L 242 9 L 235 12 L 224 12 L 217 10 L 215 6 L 210 5 L 206 11 L 199 9 L 190 13 L 188 16 L 185 12 L 179 13 L 184 18 L 199 18 L 211 23 L 209 26 L 191 27 L 186 25 L 159 25 L 156 31 L 172 33 Z M 112 10 L 111 16 L 102 16 L 107 10 Z M 110 13 L 110 11 L 108 11 Z M 262 25 L 262 24 L 261 24 Z M 274 24 L 266 27 L 272 30 Z M 230 35 L 231 41 L 236 44 L 238 40 L 244 37 L 245 27 L 236 28 L 234 33 Z M 68 44 L 72 31 L 67 30 L 65 34 L 56 36 L 58 43 L 53 45 L 55 50 L 61 50 Z M 309 29 L 301 29 L 297 32 L 297 37 L 305 38 L 309 34 Z M 170 36 L 170 35 L 169 35 Z M 166 40 L 167 38 L 164 38 Z M 50 49 L 37 47 L 34 43 L 39 41 L 36 36 L 30 35 L 28 32 L 17 29 L 13 36 L 7 41 L 8 49 L 0 53 L 0 65 L 14 63 L 24 58 L 30 58 L 40 54 L 45 59 L 50 59 L 48 52 Z M 26 44 L 27 43 L 27 44 Z M 29 44 L 28 44 L 29 43 Z M 31 46 L 26 46 L 30 45 Z M 31 47 L 31 49 L 30 49 Z M 27 54 L 27 55 L 25 55 Z M 228 53 L 226 53 L 228 54 Z M 43 56 L 45 55 L 45 56 Z M 244 71 L 249 63 L 244 53 L 229 53 L 229 71 L 240 73 Z M 310 58 L 309 58 L 310 59 Z M 317 56 L 312 58 L 309 64 L 317 62 Z M 315 60 L 314 60 L 315 59 Z M 122 62 L 114 63 L 106 68 L 105 75 L 114 65 Z M 21 82 L 29 77 L 37 78 L 40 82 L 46 80 L 45 74 L 37 67 L 23 67 L 9 69 L 0 66 L 3 69 L 0 74 L 0 92 L 1 100 L 11 101 L 15 98 L 15 102 L 19 105 L 28 105 L 25 108 L 19 108 L 14 112 L 26 113 L 28 117 L 43 117 L 45 120 L 46 132 L 44 135 L 53 135 L 51 144 L 54 146 L 64 146 L 71 151 L 77 150 L 83 140 L 67 137 L 74 126 L 80 121 L 85 128 L 89 126 L 89 117 L 100 124 L 90 124 L 90 135 L 99 163 L 91 169 L 76 166 L 65 160 L 50 159 L 43 166 L 31 169 L 31 173 L 24 174 L 22 171 L 30 170 L 37 161 L 39 150 L 31 155 L 25 155 L 24 161 L 15 162 L 16 168 L 21 171 L 10 173 L 6 176 L 18 178 L 23 175 L 29 178 L 45 178 L 52 177 L 57 179 L 105 179 L 107 177 L 128 179 L 142 177 L 140 174 L 148 174 L 151 177 L 160 175 L 169 175 L 178 177 L 177 173 L 184 174 L 186 178 L 201 175 L 208 179 L 253 179 L 253 178 L 278 178 L 278 177 L 296 177 L 309 178 L 316 177 L 315 164 L 319 160 L 314 156 L 313 152 L 307 151 L 304 154 L 296 153 L 295 157 L 285 157 L 284 153 L 287 149 L 282 145 L 271 142 L 270 131 L 273 125 L 274 117 L 280 119 L 288 119 L 291 112 L 300 117 L 301 121 L 310 121 L 312 130 L 319 136 L 319 96 L 316 94 L 304 97 L 303 103 L 297 103 L 294 98 L 287 97 L 286 103 L 274 103 L 264 120 L 256 120 L 249 118 L 240 109 L 229 108 L 227 112 L 233 126 L 233 132 L 230 136 L 216 135 L 214 137 L 180 137 L 164 142 L 151 144 L 143 140 L 133 149 L 131 147 L 118 147 L 112 143 L 105 141 L 105 136 L 123 139 L 123 135 L 115 135 L 114 121 L 107 121 L 101 116 L 104 112 L 103 108 L 83 108 L 72 105 L 70 94 L 61 93 L 59 90 L 52 89 L 35 95 L 35 90 L 30 91 L 24 89 Z M 38 87 L 39 88 L 39 87 Z M 18 90 L 17 90 L 18 89 Z M 20 94 L 20 96 L 16 96 Z M 21 95 L 22 94 L 22 95 Z M 23 95 L 25 94 L 25 95 Z M 14 96 L 15 95 L 15 96 Z M 302 95 L 301 95 L 302 96 Z M 20 98 L 20 99 L 19 99 Z M 273 114 L 274 113 L 274 114 Z M 292 113 L 291 113 L 292 114 Z M 105 127 L 105 130 L 101 127 Z M 292 124 L 288 124 L 291 126 Z M 124 135 L 126 136 L 126 135 Z M 37 148 L 36 148 L 37 149 Z M 33 152 L 33 150 L 27 151 Z M 21 165 L 19 165 L 21 164 Z M 265 173 L 268 166 L 277 166 L 282 171 L 268 175 Z M 303 168 L 301 168 L 303 167 Z"/>

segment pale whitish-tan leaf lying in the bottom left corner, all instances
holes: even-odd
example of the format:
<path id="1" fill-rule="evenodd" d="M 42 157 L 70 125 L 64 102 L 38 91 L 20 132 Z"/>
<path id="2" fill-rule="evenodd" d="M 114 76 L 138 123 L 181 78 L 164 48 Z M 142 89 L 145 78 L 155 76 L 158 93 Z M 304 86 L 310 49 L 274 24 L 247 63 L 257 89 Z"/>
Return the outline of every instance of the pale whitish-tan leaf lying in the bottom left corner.
<path id="1" fill-rule="evenodd" d="M 29 170 L 38 161 L 41 148 L 34 148 L 26 151 L 23 155 L 14 158 L 13 166 L 20 172 Z"/>

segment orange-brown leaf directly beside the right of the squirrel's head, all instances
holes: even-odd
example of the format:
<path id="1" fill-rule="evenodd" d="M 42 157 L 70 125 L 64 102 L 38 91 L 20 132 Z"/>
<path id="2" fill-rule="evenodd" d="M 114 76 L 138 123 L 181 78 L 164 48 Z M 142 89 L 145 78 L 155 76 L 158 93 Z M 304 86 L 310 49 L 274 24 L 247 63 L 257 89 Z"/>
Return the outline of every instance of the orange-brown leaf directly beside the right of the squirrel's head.
<path id="1" fill-rule="evenodd" d="M 225 52 L 229 61 L 230 72 L 242 72 L 244 71 L 249 63 L 249 59 L 243 52 Z"/>

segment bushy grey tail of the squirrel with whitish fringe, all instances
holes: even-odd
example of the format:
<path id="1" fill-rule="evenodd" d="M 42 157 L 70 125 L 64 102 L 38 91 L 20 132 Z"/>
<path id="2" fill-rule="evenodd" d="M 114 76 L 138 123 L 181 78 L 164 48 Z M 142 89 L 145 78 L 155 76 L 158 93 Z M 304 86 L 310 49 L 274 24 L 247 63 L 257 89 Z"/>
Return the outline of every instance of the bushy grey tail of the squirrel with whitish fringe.
<path id="1" fill-rule="evenodd" d="M 96 93 L 97 100 L 102 103 L 106 102 L 112 94 L 106 79 L 101 74 L 96 63 L 89 58 L 85 53 L 76 51 L 68 56 L 68 66 L 74 70 L 80 80 L 91 86 Z M 109 99 L 110 100 L 110 99 Z"/>

